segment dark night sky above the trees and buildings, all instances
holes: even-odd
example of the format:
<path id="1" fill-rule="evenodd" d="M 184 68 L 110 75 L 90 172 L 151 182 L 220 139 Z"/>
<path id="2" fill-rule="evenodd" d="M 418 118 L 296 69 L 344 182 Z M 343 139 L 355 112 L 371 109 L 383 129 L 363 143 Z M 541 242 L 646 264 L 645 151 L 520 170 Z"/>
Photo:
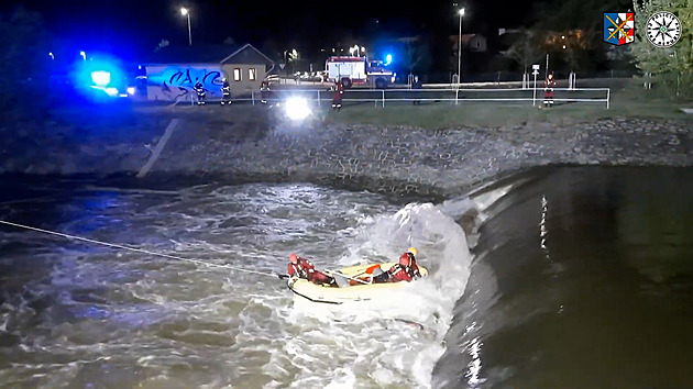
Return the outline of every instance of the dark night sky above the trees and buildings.
<path id="1" fill-rule="evenodd" d="M 13 4 L 1 5 L 3 11 Z M 42 13 L 54 36 L 82 41 L 88 47 L 136 56 L 166 38 L 187 43 L 187 21 L 180 7 L 191 10 L 193 42 L 221 43 L 231 36 L 238 43 L 262 46 L 267 40 L 278 47 L 319 51 L 340 41 L 352 45 L 369 36 L 413 36 L 420 33 L 455 35 L 459 19 L 453 1 L 180 1 L 180 0 L 81 0 L 20 1 Z M 487 0 L 466 0 L 465 32 L 497 34 L 498 27 L 526 22 L 531 0 L 499 7 Z M 346 7 L 346 9 L 345 9 Z M 365 43 L 361 43 L 365 44 Z M 127 47 L 127 49 L 125 49 Z M 128 53 L 125 53 L 125 51 Z"/>

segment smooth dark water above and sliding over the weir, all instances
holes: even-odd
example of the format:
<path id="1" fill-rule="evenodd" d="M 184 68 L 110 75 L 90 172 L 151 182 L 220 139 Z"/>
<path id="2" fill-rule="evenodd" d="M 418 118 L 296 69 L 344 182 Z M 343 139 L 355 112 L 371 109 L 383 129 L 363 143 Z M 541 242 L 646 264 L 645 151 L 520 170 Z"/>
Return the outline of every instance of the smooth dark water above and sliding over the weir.
<path id="1" fill-rule="evenodd" d="M 486 213 L 438 387 L 693 387 L 693 169 L 540 170 Z"/>

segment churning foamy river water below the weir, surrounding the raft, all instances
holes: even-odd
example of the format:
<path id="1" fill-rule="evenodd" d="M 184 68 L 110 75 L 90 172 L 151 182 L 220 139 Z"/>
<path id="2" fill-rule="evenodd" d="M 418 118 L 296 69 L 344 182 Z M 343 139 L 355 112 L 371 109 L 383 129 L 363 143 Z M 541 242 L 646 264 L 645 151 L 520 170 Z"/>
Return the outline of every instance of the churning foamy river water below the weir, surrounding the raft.
<path id="1" fill-rule="evenodd" d="M 4 387 L 429 387 L 469 277 L 451 218 L 464 202 L 447 215 L 310 185 L 11 184 L 2 220 L 261 274 L 0 226 Z M 274 276 L 292 252 L 336 268 L 410 245 L 431 277 L 378 305 L 297 304 Z"/>

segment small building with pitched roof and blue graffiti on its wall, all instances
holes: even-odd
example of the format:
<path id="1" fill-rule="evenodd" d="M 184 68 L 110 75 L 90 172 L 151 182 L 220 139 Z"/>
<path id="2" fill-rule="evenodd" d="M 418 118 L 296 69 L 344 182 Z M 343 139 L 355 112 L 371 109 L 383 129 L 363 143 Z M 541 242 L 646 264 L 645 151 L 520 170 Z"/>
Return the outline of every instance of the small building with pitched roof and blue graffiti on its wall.
<path id="1" fill-rule="evenodd" d="M 250 96 L 274 69 L 274 62 L 251 44 L 164 46 L 142 65 L 150 101 L 185 101 L 195 99 L 199 81 L 207 99 L 221 99 L 224 78 L 231 96 Z"/>

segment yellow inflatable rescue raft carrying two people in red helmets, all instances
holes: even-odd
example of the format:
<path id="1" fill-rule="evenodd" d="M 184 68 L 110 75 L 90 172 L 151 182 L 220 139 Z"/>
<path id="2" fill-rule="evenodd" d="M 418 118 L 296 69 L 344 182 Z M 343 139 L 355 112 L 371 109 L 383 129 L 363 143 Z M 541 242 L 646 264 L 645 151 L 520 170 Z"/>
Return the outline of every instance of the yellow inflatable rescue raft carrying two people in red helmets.
<path id="1" fill-rule="evenodd" d="M 356 285 L 349 285 L 349 280 L 361 278 L 364 276 L 371 276 L 374 268 L 376 268 L 377 271 L 377 265 L 380 265 L 380 269 L 386 271 L 396 264 L 397 263 L 366 264 L 344 267 L 336 271 L 326 271 L 330 276 L 336 277 L 338 284 L 340 284 L 341 287 L 316 285 L 304 278 L 292 277 L 288 280 L 288 288 L 294 292 L 295 298 L 306 299 L 311 302 L 341 304 L 344 302 L 369 301 L 376 298 L 383 298 L 383 296 L 386 294 L 387 291 L 404 288 L 409 282 L 359 282 Z M 428 274 L 428 270 L 420 265 L 419 271 L 421 273 L 422 277 L 426 277 Z M 375 275 L 377 275 L 377 273 L 375 273 Z"/>

